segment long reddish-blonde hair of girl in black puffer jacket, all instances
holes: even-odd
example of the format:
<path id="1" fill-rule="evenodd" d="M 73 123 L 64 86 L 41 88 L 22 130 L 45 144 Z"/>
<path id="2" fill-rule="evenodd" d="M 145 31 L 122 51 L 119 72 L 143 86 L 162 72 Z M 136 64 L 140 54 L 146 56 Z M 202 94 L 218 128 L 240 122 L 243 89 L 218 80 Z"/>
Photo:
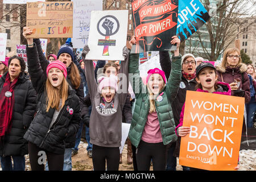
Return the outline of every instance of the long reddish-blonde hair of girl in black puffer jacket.
<path id="1" fill-rule="evenodd" d="M 46 80 L 46 93 L 47 93 L 47 101 L 46 101 L 46 111 L 48 112 L 50 107 L 59 110 L 60 98 L 61 98 L 61 108 L 65 105 L 65 101 L 68 98 L 68 82 L 65 80 L 63 76 L 63 80 L 60 85 L 60 89 L 52 86 L 49 78 Z"/>

